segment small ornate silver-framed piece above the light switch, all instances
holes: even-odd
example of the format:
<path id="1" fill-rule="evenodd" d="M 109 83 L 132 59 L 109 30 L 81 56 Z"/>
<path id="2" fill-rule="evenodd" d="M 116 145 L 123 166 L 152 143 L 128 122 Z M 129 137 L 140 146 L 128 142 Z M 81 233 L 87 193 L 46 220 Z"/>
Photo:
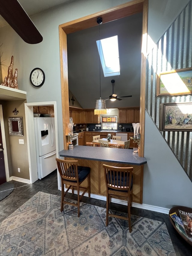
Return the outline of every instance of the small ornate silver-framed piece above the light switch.
<path id="1" fill-rule="evenodd" d="M 9 134 L 23 136 L 22 117 L 8 117 Z"/>

